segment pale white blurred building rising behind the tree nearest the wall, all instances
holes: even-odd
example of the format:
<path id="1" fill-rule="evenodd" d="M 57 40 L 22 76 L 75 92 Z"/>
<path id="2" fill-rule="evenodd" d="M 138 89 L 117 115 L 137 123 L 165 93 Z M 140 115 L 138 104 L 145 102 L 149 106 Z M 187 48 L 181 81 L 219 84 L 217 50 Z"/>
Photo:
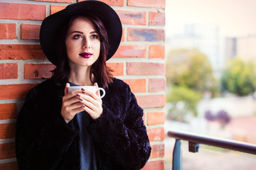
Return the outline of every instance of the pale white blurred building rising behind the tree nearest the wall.
<path id="1" fill-rule="evenodd" d="M 198 49 L 208 57 L 216 78 L 225 67 L 223 44 L 225 40 L 217 26 L 191 23 L 183 26 L 180 33 L 166 38 L 166 55 L 175 49 Z"/>

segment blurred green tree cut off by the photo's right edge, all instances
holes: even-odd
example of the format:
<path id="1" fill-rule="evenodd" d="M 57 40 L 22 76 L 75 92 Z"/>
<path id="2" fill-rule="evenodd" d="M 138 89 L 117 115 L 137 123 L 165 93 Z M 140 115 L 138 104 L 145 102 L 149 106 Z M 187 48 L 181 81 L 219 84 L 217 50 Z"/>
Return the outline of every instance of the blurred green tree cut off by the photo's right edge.
<path id="1" fill-rule="evenodd" d="M 256 67 L 253 62 L 244 62 L 238 58 L 228 63 L 221 77 L 222 91 L 238 96 L 247 96 L 255 92 Z"/>

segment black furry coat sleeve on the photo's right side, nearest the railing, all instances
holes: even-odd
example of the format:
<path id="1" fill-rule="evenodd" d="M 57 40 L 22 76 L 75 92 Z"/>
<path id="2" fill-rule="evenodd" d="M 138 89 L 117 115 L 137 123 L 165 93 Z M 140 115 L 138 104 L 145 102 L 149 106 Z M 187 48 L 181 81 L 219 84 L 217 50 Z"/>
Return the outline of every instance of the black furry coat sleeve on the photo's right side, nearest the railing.
<path id="1" fill-rule="evenodd" d="M 119 106 L 109 107 L 119 109 L 103 104 L 101 117 L 91 126 L 92 135 L 120 169 L 142 169 L 151 153 L 143 110 L 128 85 L 122 94 L 125 95 L 119 95 L 119 99 L 110 96 L 112 100 L 119 100 L 116 103 Z"/>

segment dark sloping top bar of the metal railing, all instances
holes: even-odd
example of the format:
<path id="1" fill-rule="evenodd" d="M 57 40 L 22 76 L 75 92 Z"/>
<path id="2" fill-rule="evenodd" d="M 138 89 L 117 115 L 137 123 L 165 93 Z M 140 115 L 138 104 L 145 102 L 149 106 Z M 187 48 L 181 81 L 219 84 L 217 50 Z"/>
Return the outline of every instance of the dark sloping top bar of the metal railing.
<path id="1" fill-rule="evenodd" d="M 247 142 L 238 142 L 236 140 L 228 140 L 220 137 L 211 137 L 208 135 L 199 135 L 193 132 L 183 132 L 179 130 L 169 130 L 169 137 L 174 137 L 179 140 L 211 145 L 214 147 L 222 147 L 235 151 L 256 154 L 256 145 Z"/>

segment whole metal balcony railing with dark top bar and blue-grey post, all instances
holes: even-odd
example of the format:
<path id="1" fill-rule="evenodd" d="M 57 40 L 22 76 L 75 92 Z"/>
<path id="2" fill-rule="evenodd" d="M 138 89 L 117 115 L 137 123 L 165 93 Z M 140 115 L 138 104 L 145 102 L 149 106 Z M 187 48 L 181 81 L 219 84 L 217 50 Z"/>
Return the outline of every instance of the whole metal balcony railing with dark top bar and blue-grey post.
<path id="1" fill-rule="evenodd" d="M 176 139 L 173 152 L 174 170 L 180 170 L 182 167 L 181 140 L 188 141 L 189 152 L 198 152 L 199 144 L 203 144 L 256 155 L 256 145 L 247 142 L 238 142 L 235 140 L 227 140 L 220 137 L 211 137 L 208 135 L 199 135 L 178 130 L 169 130 L 167 135 Z"/>

